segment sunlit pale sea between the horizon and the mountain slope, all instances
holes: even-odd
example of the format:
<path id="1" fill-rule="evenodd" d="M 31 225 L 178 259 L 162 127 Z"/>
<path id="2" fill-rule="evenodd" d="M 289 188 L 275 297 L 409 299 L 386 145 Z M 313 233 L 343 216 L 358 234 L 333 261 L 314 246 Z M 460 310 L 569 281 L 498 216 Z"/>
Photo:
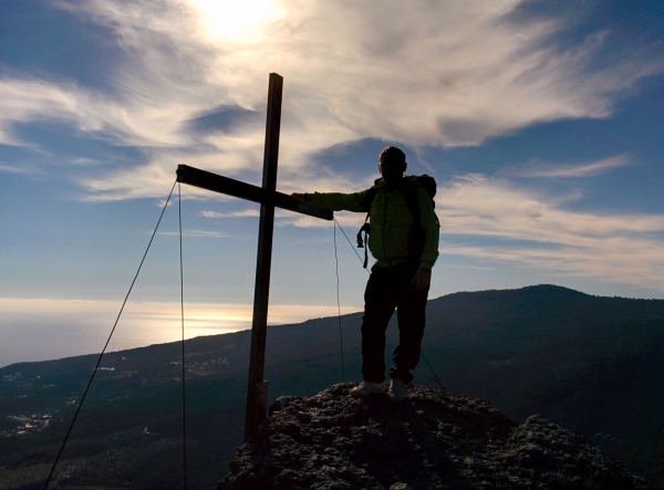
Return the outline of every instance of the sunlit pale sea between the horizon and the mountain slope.
<path id="1" fill-rule="evenodd" d="M 357 311 L 343 307 L 342 314 Z M 120 305 L 107 301 L 0 299 L 0 367 L 100 353 Z M 336 306 L 270 305 L 270 324 L 334 316 Z M 185 338 L 251 327 L 250 304 L 185 304 Z M 181 340 L 179 303 L 127 303 L 106 352 Z"/>

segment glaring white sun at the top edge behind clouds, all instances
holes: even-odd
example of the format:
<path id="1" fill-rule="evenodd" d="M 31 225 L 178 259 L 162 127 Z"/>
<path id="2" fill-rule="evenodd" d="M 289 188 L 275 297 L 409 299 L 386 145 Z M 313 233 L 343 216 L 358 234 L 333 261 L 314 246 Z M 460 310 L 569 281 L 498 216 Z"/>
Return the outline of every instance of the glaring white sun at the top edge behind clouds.
<path id="1" fill-rule="evenodd" d="M 249 41 L 261 24 L 276 19 L 274 0 L 193 0 L 211 38 Z"/>

